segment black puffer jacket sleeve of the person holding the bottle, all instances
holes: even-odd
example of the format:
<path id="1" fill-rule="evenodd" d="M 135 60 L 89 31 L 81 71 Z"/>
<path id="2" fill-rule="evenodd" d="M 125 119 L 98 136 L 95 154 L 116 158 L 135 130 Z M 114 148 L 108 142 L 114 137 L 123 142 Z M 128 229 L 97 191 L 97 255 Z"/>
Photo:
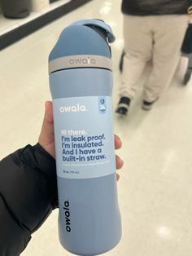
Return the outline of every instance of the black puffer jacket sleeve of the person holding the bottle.
<path id="1" fill-rule="evenodd" d="M 28 145 L 0 161 L 0 255 L 18 256 L 58 207 L 55 159 Z"/>

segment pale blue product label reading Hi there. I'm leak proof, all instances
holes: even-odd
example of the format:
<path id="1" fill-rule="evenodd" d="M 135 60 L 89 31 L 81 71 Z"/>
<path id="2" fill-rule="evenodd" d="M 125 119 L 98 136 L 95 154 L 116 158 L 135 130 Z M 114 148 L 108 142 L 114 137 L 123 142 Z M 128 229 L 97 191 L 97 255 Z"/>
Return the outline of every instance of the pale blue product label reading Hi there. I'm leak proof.
<path id="1" fill-rule="evenodd" d="M 111 97 L 54 99 L 57 174 L 96 178 L 116 171 Z"/>

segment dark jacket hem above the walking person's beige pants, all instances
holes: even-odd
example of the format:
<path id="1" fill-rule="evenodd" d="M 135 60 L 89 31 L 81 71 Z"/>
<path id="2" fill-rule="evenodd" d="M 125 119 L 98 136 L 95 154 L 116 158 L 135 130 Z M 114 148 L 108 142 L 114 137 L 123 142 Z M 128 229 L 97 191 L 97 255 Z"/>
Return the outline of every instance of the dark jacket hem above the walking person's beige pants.
<path id="1" fill-rule="evenodd" d="M 186 14 L 192 0 L 123 0 L 121 10 L 129 15 Z"/>

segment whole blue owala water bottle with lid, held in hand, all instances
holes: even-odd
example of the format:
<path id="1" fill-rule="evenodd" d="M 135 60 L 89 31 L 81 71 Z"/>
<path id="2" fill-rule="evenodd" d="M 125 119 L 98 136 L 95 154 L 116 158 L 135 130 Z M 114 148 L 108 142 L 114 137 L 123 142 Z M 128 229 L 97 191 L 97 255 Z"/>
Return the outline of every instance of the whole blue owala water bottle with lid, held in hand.
<path id="1" fill-rule="evenodd" d="M 111 50 L 101 20 L 63 30 L 50 53 L 59 190 L 59 241 L 72 254 L 96 255 L 120 241 L 111 114 Z"/>

